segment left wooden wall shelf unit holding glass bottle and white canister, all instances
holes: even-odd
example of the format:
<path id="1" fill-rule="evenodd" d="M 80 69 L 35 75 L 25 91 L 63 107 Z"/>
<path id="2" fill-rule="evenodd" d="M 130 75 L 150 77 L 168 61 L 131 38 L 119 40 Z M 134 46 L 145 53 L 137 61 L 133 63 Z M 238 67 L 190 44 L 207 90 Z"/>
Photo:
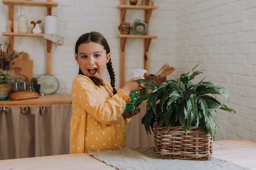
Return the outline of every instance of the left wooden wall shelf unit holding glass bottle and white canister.
<path id="1" fill-rule="evenodd" d="M 43 37 L 43 33 L 13 33 L 13 6 L 14 5 L 25 5 L 34 7 L 47 7 L 47 15 L 52 15 L 52 7 L 57 7 L 58 2 L 52 2 L 52 0 L 46 1 L 35 1 L 35 0 L 2 0 L 4 5 L 9 6 L 9 20 L 8 20 L 8 32 L 3 32 L 2 35 L 9 37 L 9 50 L 14 50 L 14 37 L 15 36 L 26 36 L 26 37 Z M 52 41 L 47 40 L 46 50 L 46 73 L 52 73 Z"/>

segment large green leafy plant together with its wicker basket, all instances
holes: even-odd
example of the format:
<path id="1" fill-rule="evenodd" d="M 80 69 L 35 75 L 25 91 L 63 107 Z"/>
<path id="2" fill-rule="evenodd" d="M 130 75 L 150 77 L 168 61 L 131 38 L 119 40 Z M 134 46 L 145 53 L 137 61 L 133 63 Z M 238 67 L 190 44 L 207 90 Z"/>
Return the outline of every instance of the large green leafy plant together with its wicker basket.
<path id="1" fill-rule="evenodd" d="M 147 87 L 133 107 L 135 108 L 142 101 L 147 100 L 146 113 L 141 123 L 144 124 L 146 132 L 151 133 L 151 128 L 155 134 L 155 142 L 159 141 L 156 144 L 159 157 L 164 158 L 166 155 L 170 155 L 170 157 L 167 156 L 167 159 L 179 159 L 181 157 L 186 159 L 188 157 L 188 159 L 210 160 L 212 139 L 216 137 L 216 109 L 220 108 L 235 113 L 234 109 L 226 106 L 222 100 L 218 100 L 221 96 L 227 100 L 229 99 L 226 88 L 219 87 L 212 82 L 204 82 L 205 77 L 199 83 L 193 84 L 192 80 L 195 76 L 204 73 L 204 70 L 194 71 L 197 66 L 190 72 L 183 73 L 177 79 L 167 80 L 159 86 L 147 79 L 137 80 L 145 83 Z M 148 89 L 151 89 L 152 92 L 148 93 Z M 175 133 L 168 135 L 171 130 L 177 130 L 175 128 L 180 128 L 182 132 L 175 131 Z M 196 132 L 192 132 L 192 128 L 195 128 Z M 159 134 L 157 134 L 156 130 Z M 199 133 L 198 130 L 202 132 Z M 177 135 L 180 133 L 181 135 Z M 194 136 L 195 134 L 198 136 Z M 189 136 L 191 139 L 188 138 Z M 165 137 L 165 139 L 161 137 Z M 203 150 L 200 148 L 202 146 L 198 146 L 200 149 L 195 149 L 194 145 L 198 144 L 198 142 L 200 143 L 202 137 L 206 137 L 202 139 L 206 141 L 206 143 L 202 143 L 202 146 L 207 146 L 207 148 L 202 154 L 199 154 Z M 172 141 L 173 139 L 174 141 Z M 182 144 L 179 144 L 180 141 L 176 142 L 179 139 L 181 139 Z M 183 144 L 184 141 L 191 141 L 192 144 Z M 169 145 L 175 149 L 159 146 L 161 144 Z M 176 148 L 178 145 L 181 148 Z M 187 146 L 185 151 L 184 145 Z M 193 149 L 189 149 L 190 145 L 193 145 Z M 164 153 L 161 150 L 164 150 Z M 172 153 L 168 153 L 167 150 Z M 177 150 L 182 150 L 182 152 L 177 155 Z M 189 154 L 185 154 L 189 150 L 195 151 L 193 151 L 191 157 L 188 156 Z M 209 152 L 209 155 L 200 159 L 200 156 L 207 152 Z"/>

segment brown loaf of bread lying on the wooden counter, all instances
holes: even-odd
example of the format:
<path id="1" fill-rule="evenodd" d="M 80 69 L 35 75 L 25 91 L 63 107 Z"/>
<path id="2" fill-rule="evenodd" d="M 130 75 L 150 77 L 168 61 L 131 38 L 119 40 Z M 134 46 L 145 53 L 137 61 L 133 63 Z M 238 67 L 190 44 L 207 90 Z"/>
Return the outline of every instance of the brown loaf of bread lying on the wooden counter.
<path id="1" fill-rule="evenodd" d="M 23 99 L 34 99 L 40 95 L 34 91 L 18 91 L 9 95 L 9 100 L 23 100 Z"/>

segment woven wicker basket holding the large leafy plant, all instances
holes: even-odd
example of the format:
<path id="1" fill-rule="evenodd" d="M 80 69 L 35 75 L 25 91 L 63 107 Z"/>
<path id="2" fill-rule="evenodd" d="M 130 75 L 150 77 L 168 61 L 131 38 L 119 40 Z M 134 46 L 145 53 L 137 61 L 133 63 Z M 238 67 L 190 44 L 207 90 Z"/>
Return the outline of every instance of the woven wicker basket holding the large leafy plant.
<path id="1" fill-rule="evenodd" d="M 154 123 L 156 153 L 161 159 L 211 160 L 213 155 L 210 135 L 205 135 L 200 127 L 189 126 L 185 133 L 182 126 L 168 131 Z"/>

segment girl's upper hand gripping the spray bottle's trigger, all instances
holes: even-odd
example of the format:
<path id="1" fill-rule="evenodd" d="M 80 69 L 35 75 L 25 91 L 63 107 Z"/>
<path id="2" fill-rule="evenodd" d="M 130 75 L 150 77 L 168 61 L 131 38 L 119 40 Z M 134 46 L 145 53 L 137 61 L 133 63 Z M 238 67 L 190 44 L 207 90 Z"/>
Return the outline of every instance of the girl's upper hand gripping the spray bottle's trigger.
<path id="1" fill-rule="evenodd" d="M 143 76 L 135 77 L 133 79 L 130 79 L 128 82 L 126 82 L 126 84 L 124 84 L 124 86 L 121 88 L 123 89 L 124 93 L 126 93 L 126 95 L 130 95 L 130 93 L 134 91 L 138 91 L 139 89 L 144 87 L 144 84 L 142 82 L 137 82 L 137 81 L 132 82 L 137 79 L 145 79 L 145 77 Z"/>

